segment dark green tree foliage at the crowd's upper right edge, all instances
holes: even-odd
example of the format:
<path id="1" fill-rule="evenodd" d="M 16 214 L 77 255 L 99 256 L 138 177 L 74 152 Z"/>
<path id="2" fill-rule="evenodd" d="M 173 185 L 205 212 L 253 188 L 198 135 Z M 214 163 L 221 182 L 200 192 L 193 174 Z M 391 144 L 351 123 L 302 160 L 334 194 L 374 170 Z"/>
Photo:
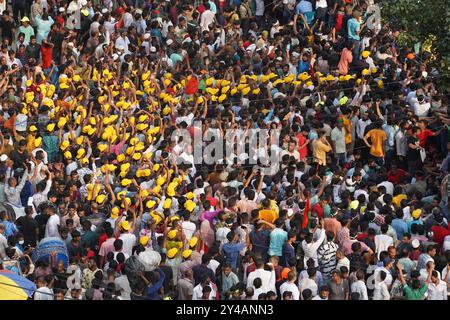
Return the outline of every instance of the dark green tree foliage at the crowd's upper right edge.
<path id="1" fill-rule="evenodd" d="M 405 44 L 411 48 L 417 42 L 431 44 L 433 64 L 448 85 L 450 0 L 386 0 L 380 6 L 383 19 L 402 29 L 401 38 Z"/>

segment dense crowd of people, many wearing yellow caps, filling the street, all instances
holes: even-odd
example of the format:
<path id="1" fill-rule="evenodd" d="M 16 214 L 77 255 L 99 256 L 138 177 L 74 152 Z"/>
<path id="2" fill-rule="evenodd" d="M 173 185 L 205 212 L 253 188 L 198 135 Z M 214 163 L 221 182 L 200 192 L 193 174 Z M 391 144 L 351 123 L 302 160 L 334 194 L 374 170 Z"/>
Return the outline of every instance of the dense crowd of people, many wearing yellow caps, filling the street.
<path id="1" fill-rule="evenodd" d="M 448 96 L 376 8 L 0 3 L 0 269 L 34 300 L 447 300 Z"/>

